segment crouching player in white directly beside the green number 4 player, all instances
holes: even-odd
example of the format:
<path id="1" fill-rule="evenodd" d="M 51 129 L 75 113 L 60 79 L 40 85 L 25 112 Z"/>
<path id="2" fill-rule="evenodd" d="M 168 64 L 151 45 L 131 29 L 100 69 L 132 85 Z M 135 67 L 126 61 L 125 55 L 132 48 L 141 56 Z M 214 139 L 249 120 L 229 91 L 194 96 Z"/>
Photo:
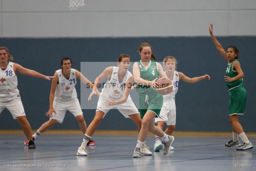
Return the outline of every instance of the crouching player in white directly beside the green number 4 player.
<path id="1" fill-rule="evenodd" d="M 131 72 L 128 71 L 130 57 L 127 54 L 121 54 L 117 64 L 118 67 L 111 66 L 106 68 L 94 81 L 94 85 L 98 85 L 101 80 L 108 78 L 107 83 L 100 93 L 95 117 L 88 126 L 83 142 L 78 148 L 77 155 L 79 156 L 87 156 L 87 150 L 85 149 L 86 144 L 90 141 L 102 118 L 114 107 L 116 107 L 124 117 L 133 120 L 138 127 L 138 132 L 141 130 L 141 116 L 130 97 L 133 83 L 133 76 Z M 96 86 L 93 87 L 88 100 L 90 100 L 94 94 L 96 94 Z M 145 144 L 143 144 L 141 152 L 144 153 L 144 155 L 152 155 Z"/>

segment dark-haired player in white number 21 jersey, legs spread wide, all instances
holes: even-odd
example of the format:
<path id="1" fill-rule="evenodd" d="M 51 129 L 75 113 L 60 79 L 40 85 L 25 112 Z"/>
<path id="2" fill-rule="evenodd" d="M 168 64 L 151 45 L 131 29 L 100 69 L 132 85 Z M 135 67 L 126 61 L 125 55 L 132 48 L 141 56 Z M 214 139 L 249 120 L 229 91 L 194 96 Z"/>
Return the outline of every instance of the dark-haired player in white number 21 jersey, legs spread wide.
<path id="1" fill-rule="evenodd" d="M 50 92 L 50 107 L 46 116 L 50 117 L 49 121 L 42 124 L 42 126 L 32 135 L 36 139 L 40 134 L 53 126 L 56 122 L 62 123 L 66 111 L 70 111 L 79 123 L 82 133 L 85 133 L 87 127 L 84 121 L 83 112 L 77 99 L 77 91 L 75 85 L 77 78 L 84 84 L 92 84 L 84 77 L 78 70 L 71 68 L 72 61 L 69 57 L 64 57 L 61 60 L 61 68 L 55 72 L 55 79 L 51 83 Z M 96 92 L 98 96 L 100 92 Z M 24 142 L 27 144 L 28 140 Z M 91 146 L 95 146 L 93 141 L 90 141 Z"/>

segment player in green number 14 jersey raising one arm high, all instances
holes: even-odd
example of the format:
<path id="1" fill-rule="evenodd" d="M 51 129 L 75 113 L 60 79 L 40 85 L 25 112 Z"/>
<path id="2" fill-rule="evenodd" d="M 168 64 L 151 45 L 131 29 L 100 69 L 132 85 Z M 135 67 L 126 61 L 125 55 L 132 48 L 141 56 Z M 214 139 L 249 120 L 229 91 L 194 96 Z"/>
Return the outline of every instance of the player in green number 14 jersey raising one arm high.
<path id="1" fill-rule="evenodd" d="M 243 115 L 246 103 L 247 93 L 243 84 L 243 71 L 238 60 L 239 50 L 236 46 L 229 46 L 225 52 L 221 44 L 214 37 L 212 33 L 213 25 L 210 24 L 209 31 L 212 36 L 212 40 L 223 56 L 223 58 L 228 61 L 228 66 L 226 69 L 225 80 L 228 86 L 229 92 L 229 121 L 232 125 L 233 130 L 233 139 L 226 143 L 227 147 L 237 146 L 236 150 L 247 150 L 253 148 L 252 143 L 246 137 L 243 127 L 240 125 L 238 116 Z M 241 146 L 238 136 L 244 142 L 244 145 Z"/>

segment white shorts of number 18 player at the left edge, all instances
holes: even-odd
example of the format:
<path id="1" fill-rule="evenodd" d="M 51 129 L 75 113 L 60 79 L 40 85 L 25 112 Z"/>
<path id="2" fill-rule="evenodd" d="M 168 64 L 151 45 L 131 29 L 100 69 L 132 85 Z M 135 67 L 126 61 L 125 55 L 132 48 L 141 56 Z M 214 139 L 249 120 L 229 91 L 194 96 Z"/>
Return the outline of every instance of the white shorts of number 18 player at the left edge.
<path id="1" fill-rule="evenodd" d="M 0 102 L 0 113 L 5 108 L 10 111 L 13 119 L 16 119 L 16 117 L 19 116 L 26 116 L 20 97 L 8 102 Z"/>

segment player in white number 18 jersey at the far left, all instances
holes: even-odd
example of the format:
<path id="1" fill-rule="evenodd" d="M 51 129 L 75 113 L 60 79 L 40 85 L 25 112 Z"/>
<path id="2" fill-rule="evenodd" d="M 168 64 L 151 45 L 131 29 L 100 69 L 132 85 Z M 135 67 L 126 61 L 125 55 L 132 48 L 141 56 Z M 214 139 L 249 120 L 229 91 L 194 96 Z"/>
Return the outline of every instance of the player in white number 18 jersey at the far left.
<path id="1" fill-rule="evenodd" d="M 26 119 L 26 114 L 21 102 L 20 92 L 17 88 L 18 80 L 16 74 L 20 73 L 46 80 L 55 77 L 45 76 L 34 70 L 24 68 L 19 64 L 9 62 L 8 58 L 13 60 L 13 56 L 9 54 L 9 50 L 4 46 L 0 47 L 0 113 L 3 109 L 7 108 L 11 112 L 13 119 L 17 119 L 20 123 L 22 130 L 28 139 L 28 148 L 36 148 L 32 139 L 31 127 Z"/>

